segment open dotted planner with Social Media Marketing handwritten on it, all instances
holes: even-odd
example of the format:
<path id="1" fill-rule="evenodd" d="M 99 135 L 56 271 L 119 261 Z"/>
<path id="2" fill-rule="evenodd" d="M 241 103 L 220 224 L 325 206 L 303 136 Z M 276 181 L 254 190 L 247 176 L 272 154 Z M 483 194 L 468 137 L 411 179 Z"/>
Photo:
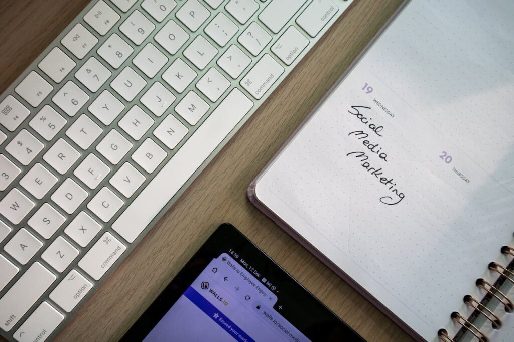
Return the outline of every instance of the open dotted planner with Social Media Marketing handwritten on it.
<path id="1" fill-rule="evenodd" d="M 249 189 L 418 339 L 514 340 L 513 16 L 408 3 Z"/>

